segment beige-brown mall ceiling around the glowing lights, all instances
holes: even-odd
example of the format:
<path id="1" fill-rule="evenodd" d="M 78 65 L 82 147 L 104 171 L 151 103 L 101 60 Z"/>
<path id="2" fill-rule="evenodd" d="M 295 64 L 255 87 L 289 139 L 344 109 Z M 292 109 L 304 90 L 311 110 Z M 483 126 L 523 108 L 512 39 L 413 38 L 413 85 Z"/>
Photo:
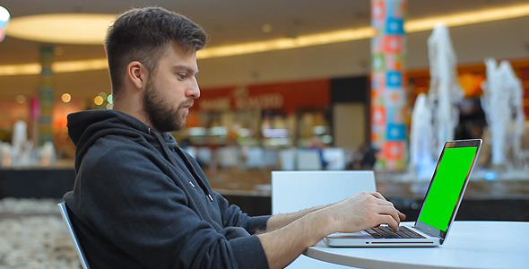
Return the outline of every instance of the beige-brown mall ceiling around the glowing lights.
<path id="1" fill-rule="evenodd" d="M 407 19 L 469 12 L 526 0 L 408 0 Z M 369 25 L 369 0 L 4 0 L 12 18 L 41 13 L 122 13 L 131 7 L 160 5 L 199 23 L 209 34 L 208 47 L 296 37 Z M 272 30 L 264 32 L 264 24 Z M 90 27 L 90 25 L 87 25 Z M 56 61 L 104 57 L 98 45 L 56 44 Z M 0 43 L 0 65 L 39 62 L 39 43 L 7 36 Z"/>

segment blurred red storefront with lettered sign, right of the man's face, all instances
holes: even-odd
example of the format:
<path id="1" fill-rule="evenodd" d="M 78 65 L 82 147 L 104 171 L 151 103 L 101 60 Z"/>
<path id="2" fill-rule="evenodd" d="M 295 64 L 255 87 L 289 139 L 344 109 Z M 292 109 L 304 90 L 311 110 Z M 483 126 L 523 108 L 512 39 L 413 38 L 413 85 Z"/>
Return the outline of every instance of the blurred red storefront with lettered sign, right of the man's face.
<path id="1" fill-rule="evenodd" d="M 330 134 L 326 79 L 203 89 L 179 134 L 197 146 L 239 144 L 281 148 L 307 146 L 314 135 Z"/>

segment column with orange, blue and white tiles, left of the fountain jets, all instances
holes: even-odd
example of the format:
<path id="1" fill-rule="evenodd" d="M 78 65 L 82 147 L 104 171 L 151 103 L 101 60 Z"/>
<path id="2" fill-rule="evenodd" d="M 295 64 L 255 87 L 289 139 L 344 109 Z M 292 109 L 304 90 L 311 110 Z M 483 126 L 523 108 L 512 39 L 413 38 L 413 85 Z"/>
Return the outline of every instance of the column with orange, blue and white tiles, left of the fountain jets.
<path id="1" fill-rule="evenodd" d="M 405 0 L 371 0 L 371 144 L 378 171 L 401 171 L 407 163 L 405 11 Z"/>

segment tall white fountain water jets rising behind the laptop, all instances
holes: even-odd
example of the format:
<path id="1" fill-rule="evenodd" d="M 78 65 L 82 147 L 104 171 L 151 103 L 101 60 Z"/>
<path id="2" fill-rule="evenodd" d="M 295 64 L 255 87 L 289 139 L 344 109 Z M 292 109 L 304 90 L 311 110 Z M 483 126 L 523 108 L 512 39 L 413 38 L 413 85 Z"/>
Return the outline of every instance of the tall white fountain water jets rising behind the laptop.
<path id="1" fill-rule="evenodd" d="M 430 88 L 428 99 L 420 94 L 412 111 L 409 174 L 418 181 L 429 179 L 443 143 L 453 140 L 458 124 L 458 103 L 464 91 L 457 82 L 455 52 L 447 27 L 438 24 L 428 39 Z M 485 60 L 487 80 L 482 83 L 481 107 L 488 123 L 483 142 L 490 146 L 480 158 L 490 158 L 490 167 L 474 169 L 477 179 L 528 179 L 529 144 L 523 143 L 525 126 L 524 90 L 507 61 Z"/>

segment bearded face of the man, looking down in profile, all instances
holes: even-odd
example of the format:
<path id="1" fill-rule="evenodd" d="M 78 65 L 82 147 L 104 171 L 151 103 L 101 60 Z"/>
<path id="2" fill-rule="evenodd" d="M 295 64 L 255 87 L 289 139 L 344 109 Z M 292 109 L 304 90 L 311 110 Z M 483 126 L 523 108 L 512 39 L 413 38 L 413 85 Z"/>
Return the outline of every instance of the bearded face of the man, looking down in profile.
<path id="1" fill-rule="evenodd" d="M 195 50 L 185 52 L 171 43 L 149 74 L 143 93 L 144 113 L 154 129 L 170 132 L 186 127 L 189 108 L 200 97 L 197 73 Z"/>

